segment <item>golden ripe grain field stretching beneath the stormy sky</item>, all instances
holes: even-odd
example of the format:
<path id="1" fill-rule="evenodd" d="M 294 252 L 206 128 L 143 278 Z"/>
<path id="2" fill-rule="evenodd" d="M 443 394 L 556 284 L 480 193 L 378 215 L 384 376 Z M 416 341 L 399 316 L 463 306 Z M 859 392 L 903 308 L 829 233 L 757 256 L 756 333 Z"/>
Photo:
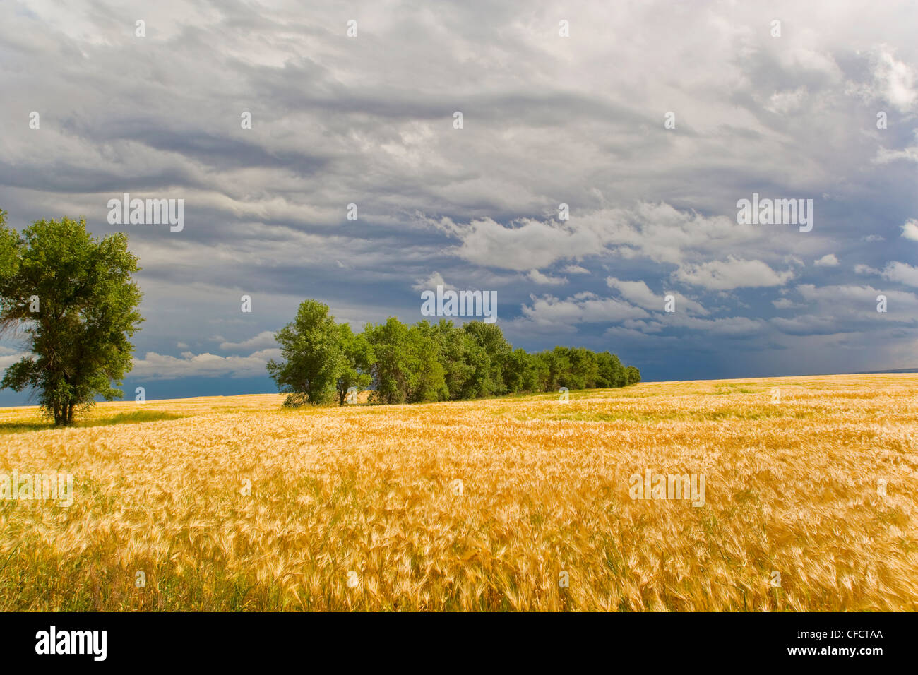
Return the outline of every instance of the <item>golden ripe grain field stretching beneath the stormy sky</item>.
<path id="1" fill-rule="evenodd" d="M 0 501 L 0 610 L 918 609 L 915 375 L 281 401 L 0 409 L 0 473 L 73 475 Z"/>

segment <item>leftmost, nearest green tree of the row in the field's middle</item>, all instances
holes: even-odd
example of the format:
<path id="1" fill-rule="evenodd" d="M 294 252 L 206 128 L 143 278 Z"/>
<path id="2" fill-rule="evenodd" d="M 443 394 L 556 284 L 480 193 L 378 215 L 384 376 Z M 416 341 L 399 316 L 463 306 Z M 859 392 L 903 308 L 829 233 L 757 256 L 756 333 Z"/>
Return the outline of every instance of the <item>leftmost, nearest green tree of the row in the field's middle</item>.
<path id="1" fill-rule="evenodd" d="M 345 356 L 341 349 L 341 327 L 329 315 L 329 306 L 304 300 L 297 318 L 274 333 L 285 361 L 268 361 L 268 375 L 287 394 L 285 406 L 319 404 L 331 398 Z"/>

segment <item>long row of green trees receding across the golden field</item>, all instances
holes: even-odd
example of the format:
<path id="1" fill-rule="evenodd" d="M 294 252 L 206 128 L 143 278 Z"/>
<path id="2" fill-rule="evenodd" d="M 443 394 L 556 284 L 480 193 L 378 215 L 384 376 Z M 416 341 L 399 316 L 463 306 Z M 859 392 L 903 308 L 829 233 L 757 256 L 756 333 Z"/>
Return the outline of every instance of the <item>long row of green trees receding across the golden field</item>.
<path id="1" fill-rule="evenodd" d="M 285 405 L 343 405 L 351 388 L 370 388 L 375 403 L 481 399 L 503 394 L 624 387 L 641 381 L 609 352 L 557 346 L 513 348 L 497 324 L 441 319 L 406 325 L 395 317 L 355 333 L 329 307 L 305 300 L 274 334 L 282 360 L 267 364 Z"/>

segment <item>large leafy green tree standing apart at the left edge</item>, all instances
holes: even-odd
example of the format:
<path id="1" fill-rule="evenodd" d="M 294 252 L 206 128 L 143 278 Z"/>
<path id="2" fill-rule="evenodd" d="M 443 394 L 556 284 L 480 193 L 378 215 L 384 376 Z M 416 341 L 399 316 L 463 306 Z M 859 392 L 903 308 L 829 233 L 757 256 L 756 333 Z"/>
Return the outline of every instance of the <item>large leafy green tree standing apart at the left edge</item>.
<path id="1" fill-rule="evenodd" d="M 85 219 L 38 220 L 21 234 L 0 211 L 0 332 L 24 329 L 28 352 L 6 368 L 0 388 L 39 394 L 57 425 L 89 408 L 96 396 L 124 396 L 131 367 L 129 337 L 143 319 L 140 268 L 118 232 L 96 240 Z"/>

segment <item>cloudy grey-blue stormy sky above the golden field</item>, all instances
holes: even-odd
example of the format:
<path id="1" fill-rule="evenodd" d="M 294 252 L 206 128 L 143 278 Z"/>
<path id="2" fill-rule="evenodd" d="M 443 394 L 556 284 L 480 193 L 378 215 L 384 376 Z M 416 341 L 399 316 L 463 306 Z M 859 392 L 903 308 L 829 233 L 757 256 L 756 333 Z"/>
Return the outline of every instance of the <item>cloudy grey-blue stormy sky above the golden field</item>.
<path id="1" fill-rule="evenodd" d="M 129 232 L 151 399 L 271 391 L 302 299 L 359 329 L 438 284 L 645 379 L 918 366 L 918 4 L 495 5 L 0 2 L 0 208 Z"/>

